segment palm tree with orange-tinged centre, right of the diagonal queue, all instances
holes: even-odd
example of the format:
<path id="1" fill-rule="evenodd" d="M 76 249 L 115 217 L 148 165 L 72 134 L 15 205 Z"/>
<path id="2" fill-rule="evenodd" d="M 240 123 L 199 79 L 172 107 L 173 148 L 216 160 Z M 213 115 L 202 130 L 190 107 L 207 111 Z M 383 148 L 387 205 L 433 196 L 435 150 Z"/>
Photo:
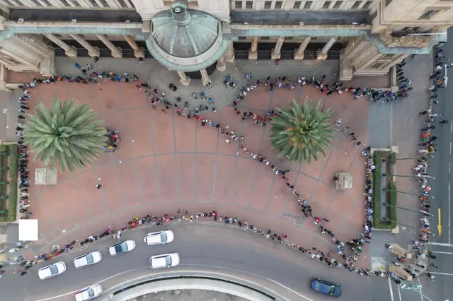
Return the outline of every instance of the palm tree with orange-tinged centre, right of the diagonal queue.
<path id="1" fill-rule="evenodd" d="M 321 102 L 316 107 L 306 98 L 304 105 L 295 100 L 292 107 L 277 108 L 278 115 L 270 124 L 270 144 L 280 151 L 279 157 L 302 163 L 318 160 L 318 153 L 331 145 L 333 132 L 332 111 L 322 110 Z"/>

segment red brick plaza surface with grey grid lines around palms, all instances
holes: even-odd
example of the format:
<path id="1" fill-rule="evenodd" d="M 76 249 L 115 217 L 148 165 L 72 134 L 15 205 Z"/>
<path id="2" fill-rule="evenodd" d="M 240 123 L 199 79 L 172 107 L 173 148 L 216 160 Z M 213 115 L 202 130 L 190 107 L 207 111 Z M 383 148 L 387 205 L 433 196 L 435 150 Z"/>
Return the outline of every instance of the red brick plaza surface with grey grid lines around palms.
<path id="1" fill-rule="evenodd" d="M 77 170 L 74 175 L 58 175 L 55 186 L 35 186 L 32 182 L 33 218 L 39 220 L 43 252 L 50 245 L 64 245 L 96 235 L 109 225 L 118 229 L 135 216 L 176 213 L 183 208 L 195 214 L 216 210 L 221 216 L 247 220 L 258 228 L 285 233 L 289 240 L 304 247 L 331 247 L 328 237 L 319 235 L 313 218 L 302 218 L 297 199 L 281 176 L 270 167 L 252 160 L 239 151 L 239 143 L 225 142 L 226 136 L 209 126 L 176 113 L 152 110 L 143 90 L 134 84 L 107 81 L 101 85 L 55 83 L 40 85 L 31 93 L 33 107 L 39 102 L 49 106 L 52 98 L 72 98 L 90 105 L 108 129 L 117 129 L 120 146 L 112 154 L 102 155 L 93 166 Z M 240 103 L 242 112 L 264 112 L 289 105 L 308 97 L 330 107 L 333 119 L 342 118 L 359 140 L 367 144 L 368 102 L 343 95 L 319 94 L 313 86 L 294 90 L 277 88 L 269 93 L 257 88 Z M 33 112 L 30 111 L 30 112 Z M 210 113 L 214 122 L 230 126 L 254 153 L 259 153 L 280 169 L 289 169 L 290 182 L 308 199 L 316 216 L 328 218 L 326 228 L 341 240 L 360 233 L 364 222 L 362 191 L 365 162 L 362 146 L 352 145 L 349 136 L 338 132 L 326 157 L 311 164 L 287 163 L 277 159 L 268 141 L 270 126 L 251 121 L 241 122 L 232 107 Z M 30 160 L 31 161 L 31 160 Z M 34 175 L 40 162 L 30 163 Z M 338 191 L 331 177 L 335 172 L 350 172 L 353 188 Z M 96 189 L 101 178 L 102 189 Z M 66 231 L 64 231 L 66 230 Z"/>

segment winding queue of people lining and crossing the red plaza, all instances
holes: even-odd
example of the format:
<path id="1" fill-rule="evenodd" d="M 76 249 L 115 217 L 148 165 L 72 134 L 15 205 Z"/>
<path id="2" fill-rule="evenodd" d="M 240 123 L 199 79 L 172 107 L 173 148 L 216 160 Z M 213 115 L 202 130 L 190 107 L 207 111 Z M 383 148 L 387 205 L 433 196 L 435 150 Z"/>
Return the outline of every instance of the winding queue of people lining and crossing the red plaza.
<path id="1" fill-rule="evenodd" d="M 108 79 L 110 81 L 116 81 L 116 82 L 125 82 L 125 83 L 131 83 L 134 81 L 139 81 L 139 78 L 135 75 L 130 76 L 127 73 L 123 74 L 115 74 L 112 72 L 108 71 L 93 71 L 93 67 L 89 64 L 85 66 L 85 68 L 82 68 L 79 64 L 75 65 L 76 68 L 81 70 L 81 76 L 52 76 L 48 79 L 38 79 L 34 78 L 31 83 L 26 83 L 24 85 L 19 86 L 23 90 L 24 93 L 24 98 L 21 98 L 20 102 L 21 105 L 27 106 L 28 100 L 30 98 L 28 97 L 28 90 L 30 88 L 35 88 L 38 85 L 44 84 L 52 84 L 52 83 L 57 83 L 60 81 L 68 81 L 69 83 L 96 83 L 96 84 L 101 84 L 101 79 Z M 270 122 L 273 117 L 277 116 L 277 112 L 274 110 L 270 110 L 269 112 L 265 112 L 264 114 L 256 114 L 253 112 L 241 112 L 238 109 L 238 102 L 242 101 L 247 93 L 251 93 L 253 89 L 257 88 L 258 86 L 266 86 L 269 87 L 270 92 L 272 92 L 275 88 L 291 88 L 294 89 L 297 85 L 314 85 L 316 89 L 319 90 L 319 93 L 325 93 L 326 95 L 330 95 L 332 93 L 338 93 L 342 94 L 344 92 L 350 92 L 355 99 L 362 98 L 363 96 L 368 96 L 370 99 L 377 101 L 376 99 L 387 99 L 387 98 L 397 98 L 401 95 L 393 95 L 393 94 L 388 94 L 384 93 L 382 91 L 375 91 L 375 90 L 369 90 L 367 88 L 352 88 L 352 87 L 346 87 L 343 88 L 343 83 L 337 82 L 333 84 L 329 84 L 326 82 L 326 76 L 321 76 L 321 78 L 316 78 L 315 75 L 312 76 L 311 78 L 297 78 L 296 81 L 292 81 L 290 77 L 282 76 L 281 78 L 275 78 L 274 81 L 270 80 L 269 78 L 266 78 L 265 81 L 251 81 L 251 74 L 247 74 L 247 79 L 248 79 L 248 84 L 247 86 L 244 86 L 239 89 L 239 96 L 232 102 L 234 110 L 236 111 L 236 114 L 241 117 L 243 122 L 246 122 L 247 120 L 253 120 L 254 123 L 259 124 L 261 126 L 265 126 L 267 122 Z M 408 81 L 407 83 L 404 83 L 401 85 L 401 89 L 405 90 L 410 90 L 406 85 L 410 84 Z M 207 88 L 210 88 L 212 84 L 207 86 Z M 231 88 L 238 88 L 236 87 L 236 83 L 232 80 L 231 76 L 226 76 L 224 85 L 226 86 L 231 86 Z M 319 249 L 316 249 L 316 247 L 302 247 L 298 244 L 294 244 L 293 242 L 289 241 L 289 238 L 285 234 L 277 234 L 276 232 L 273 232 L 272 230 L 260 230 L 256 228 L 253 224 L 248 223 L 246 221 L 241 221 L 238 218 L 233 218 L 229 216 L 222 216 L 220 217 L 219 214 L 215 211 L 211 211 L 209 213 L 196 213 L 195 215 L 189 215 L 188 211 L 182 211 L 182 209 L 178 210 L 178 212 L 175 215 L 170 215 L 169 213 L 166 213 L 164 216 L 153 216 L 153 215 L 147 215 L 144 216 L 143 218 L 133 218 L 130 220 L 127 225 L 122 227 L 120 230 L 113 230 L 112 228 L 108 228 L 108 230 L 105 230 L 103 233 L 100 235 L 89 235 L 86 239 L 81 240 L 81 241 L 72 241 L 69 242 L 68 244 L 65 245 L 63 249 L 58 249 L 54 250 L 51 254 L 40 254 L 39 256 L 35 256 L 35 259 L 31 261 L 25 261 L 26 264 L 24 266 L 30 266 L 30 264 L 33 266 L 33 264 L 38 264 L 42 261 L 47 261 L 50 259 L 55 258 L 56 256 L 59 256 L 61 254 L 71 252 L 72 249 L 74 249 L 74 246 L 77 242 L 79 242 L 80 247 L 85 247 L 87 244 L 91 244 L 93 242 L 96 242 L 97 240 L 102 239 L 103 237 L 114 237 L 116 239 L 120 239 L 122 232 L 125 230 L 132 230 L 133 228 L 136 228 L 137 226 L 149 224 L 149 225 L 156 225 L 156 226 L 163 226 L 166 223 L 172 222 L 172 221 L 188 221 L 188 222 L 193 222 L 198 220 L 199 218 L 212 218 L 214 221 L 226 223 L 226 224 L 231 224 L 231 225 L 237 225 L 239 227 L 243 227 L 244 230 L 251 230 L 253 232 L 257 232 L 260 235 L 263 235 L 264 237 L 267 237 L 270 240 L 276 240 L 282 244 L 287 244 L 289 247 L 292 247 L 296 249 L 297 251 L 301 252 L 302 254 L 309 255 L 312 259 L 319 260 L 331 268 L 345 268 L 348 271 L 357 273 L 362 276 L 387 276 L 387 274 L 381 271 L 369 271 L 368 269 L 362 269 L 358 268 L 355 266 L 354 262 L 358 260 L 358 256 L 362 253 L 362 247 L 365 244 L 368 244 L 371 240 L 372 237 L 372 208 L 369 206 L 369 204 L 372 201 L 372 189 L 370 186 L 370 181 L 371 181 L 371 175 L 372 175 L 372 162 L 368 160 L 367 167 L 370 170 L 370 172 L 367 171 L 367 180 L 365 183 L 366 187 L 366 201 L 367 201 L 367 210 L 366 210 L 366 216 L 365 216 L 365 224 L 363 225 L 363 231 L 360 233 L 360 236 L 353 238 L 352 240 L 340 240 L 336 234 L 333 232 L 333 230 L 329 230 L 327 227 L 327 224 L 329 220 L 327 218 L 322 218 L 317 216 L 311 209 L 311 206 L 309 204 L 309 200 L 303 199 L 301 196 L 301 192 L 297 191 L 297 189 L 294 188 L 294 184 L 292 184 L 292 180 L 289 179 L 289 170 L 281 169 L 275 165 L 275 163 L 272 163 L 268 160 L 268 158 L 265 158 L 265 155 L 260 154 L 258 151 L 253 150 L 253 148 L 250 148 L 249 146 L 246 146 L 245 136 L 241 136 L 238 132 L 235 132 L 233 129 L 230 129 L 230 126 L 228 124 L 216 124 L 215 122 L 212 121 L 212 119 L 209 119 L 207 117 L 203 116 L 203 112 L 210 111 L 210 107 L 207 105 L 200 105 L 200 107 L 195 107 L 191 108 L 189 102 L 184 102 L 183 105 L 181 103 L 183 100 L 181 98 L 176 98 L 173 101 L 169 101 L 164 92 L 161 92 L 158 88 L 151 88 L 147 83 L 138 83 L 137 88 L 139 90 L 144 90 L 144 93 L 146 93 L 147 97 L 149 98 L 149 102 L 151 104 L 151 110 L 156 110 L 157 106 L 161 107 L 162 112 L 165 114 L 168 112 L 168 110 L 173 110 L 171 109 L 174 107 L 176 114 L 178 114 L 179 117 L 185 117 L 188 119 L 193 119 L 197 120 L 200 122 L 202 126 L 210 126 L 213 130 L 219 131 L 220 134 L 224 134 L 226 137 L 225 142 L 227 144 L 231 144 L 232 141 L 238 142 L 239 143 L 239 148 L 236 148 L 236 155 L 239 156 L 241 155 L 241 152 L 243 152 L 245 155 L 250 155 L 253 160 L 257 160 L 259 163 L 263 163 L 263 165 L 266 165 L 269 167 L 269 171 L 273 172 L 275 175 L 278 177 L 281 177 L 282 180 L 285 182 L 285 185 L 287 189 L 289 189 L 290 193 L 294 196 L 294 201 L 297 201 L 297 203 L 300 206 L 300 210 L 306 216 L 306 218 L 313 218 L 315 226 L 319 229 L 319 232 L 321 235 L 329 235 L 331 237 L 331 244 L 332 248 L 328 252 L 322 252 Z M 176 85 L 173 85 L 171 87 L 173 91 L 175 91 Z M 214 106 L 214 100 L 207 96 L 205 93 L 194 93 L 193 97 L 197 98 L 198 95 L 200 95 L 200 98 L 206 98 L 208 100 L 208 104 L 212 105 L 212 111 L 216 112 L 215 106 Z M 384 101 L 384 100 L 383 100 Z M 23 108 L 22 110 L 25 110 Z M 28 106 L 26 108 L 28 110 Z M 25 113 L 25 111 L 22 111 Z M 19 120 L 20 124 L 22 125 L 21 130 L 18 130 L 18 136 L 20 137 L 22 143 L 21 143 L 21 152 L 23 152 L 23 157 L 25 158 L 24 160 L 26 161 L 26 148 L 23 145 L 23 126 L 25 125 L 25 116 L 23 114 L 19 115 Z M 333 120 L 332 120 L 333 122 Z M 343 126 L 343 119 L 336 119 L 335 125 L 336 126 Z M 350 136 L 350 139 L 352 141 L 352 144 L 355 144 L 357 146 L 360 146 L 362 144 L 361 141 L 359 141 L 358 137 L 355 135 L 353 131 L 350 131 L 350 128 L 348 126 L 343 127 L 343 132 L 345 133 L 345 136 Z M 113 133 L 116 134 L 116 133 Z M 239 151 L 237 151 L 239 149 Z M 369 148 L 365 148 L 365 150 L 362 151 L 362 154 L 366 155 L 368 157 L 369 155 Z M 22 161 L 23 162 L 23 161 Z M 28 161 L 27 161 L 28 162 Z M 26 163 L 26 162 L 25 162 Z M 28 175 L 28 170 L 23 169 L 24 176 Z M 21 184 L 25 185 L 23 186 L 23 191 L 21 193 L 27 194 L 26 197 L 28 198 L 28 190 L 27 187 L 29 185 L 28 178 L 24 179 L 24 182 Z M 99 187 L 101 188 L 102 184 L 98 184 Z M 25 196 L 25 195 L 24 195 Z"/>

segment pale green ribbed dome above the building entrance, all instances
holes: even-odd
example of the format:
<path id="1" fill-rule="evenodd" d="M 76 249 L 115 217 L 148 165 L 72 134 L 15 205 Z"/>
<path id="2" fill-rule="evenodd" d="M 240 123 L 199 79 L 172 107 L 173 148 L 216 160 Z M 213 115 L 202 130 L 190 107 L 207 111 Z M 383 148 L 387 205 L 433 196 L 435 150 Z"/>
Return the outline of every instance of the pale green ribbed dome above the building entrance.
<path id="1" fill-rule="evenodd" d="M 151 35 L 172 57 L 190 58 L 207 52 L 218 40 L 221 28 L 217 18 L 176 3 L 152 18 Z"/>

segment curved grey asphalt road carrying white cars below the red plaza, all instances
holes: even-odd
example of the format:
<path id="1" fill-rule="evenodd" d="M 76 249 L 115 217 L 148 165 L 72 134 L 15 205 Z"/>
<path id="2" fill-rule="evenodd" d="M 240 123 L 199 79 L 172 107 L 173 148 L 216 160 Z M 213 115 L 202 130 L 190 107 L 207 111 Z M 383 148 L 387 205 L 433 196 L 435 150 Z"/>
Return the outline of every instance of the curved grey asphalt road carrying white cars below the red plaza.
<path id="1" fill-rule="evenodd" d="M 161 273 L 149 268 L 149 257 L 156 254 L 178 252 L 180 266 L 167 271 L 187 268 L 217 269 L 222 273 L 242 273 L 285 285 L 294 290 L 293 300 L 331 300 L 309 289 L 311 278 L 320 277 L 343 285 L 340 300 L 369 300 L 370 278 L 360 277 L 343 269 L 327 268 L 319 261 L 302 256 L 288 247 L 254 234 L 228 226 L 169 225 L 175 232 L 175 240 L 164 246 L 147 246 L 143 242 L 147 232 L 156 228 L 139 229 L 122 235 L 122 240 L 132 239 L 137 247 L 128 254 L 112 257 L 108 246 L 116 242 L 112 238 L 96 242 L 83 252 L 60 257 L 67 264 L 62 275 L 40 280 L 38 267 L 30 268 L 27 275 L 6 275 L 0 280 L 2 301 L 73 300 L 73 292 L 93 283 L 101 283 L 104 290 L 139 276 Z M 103 255 L 100 263 L 86 268 L 74 268 L 73 259 L 80 254 L 98 249 Z M 383 279 L 383 281 L 386 281 Z M 300 294 L 300 295 L 297 295 Z M 55 297 L 57 296 L 57 297 Z M 303 297 L 304 296 L 304 297 Z M 55 298 L 52 298 L 55 297 Z"/>

